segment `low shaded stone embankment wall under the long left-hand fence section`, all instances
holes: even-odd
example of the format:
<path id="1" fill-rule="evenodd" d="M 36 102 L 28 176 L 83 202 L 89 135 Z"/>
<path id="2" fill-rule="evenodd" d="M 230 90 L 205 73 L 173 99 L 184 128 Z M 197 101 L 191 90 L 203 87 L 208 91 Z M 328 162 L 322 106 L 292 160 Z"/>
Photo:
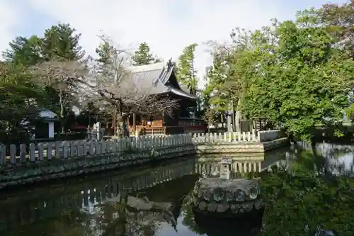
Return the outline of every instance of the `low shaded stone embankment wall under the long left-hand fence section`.
<path id="1" fill-rule="evenodd" d="M 145 152 L 105 154 L 101 157 L 77 157 L 24 164 L 18 163 L 6 167 L 6 169 L 0 169 L 0 189 L 21 184 L 33 184 L 50 179 L 62 179 L 68 176 L 79 176 L 91 172 L 102 172 L 134 164 L 182 157 L 189 154 L 195 154 L 195 145 L 165 147 Z"/>

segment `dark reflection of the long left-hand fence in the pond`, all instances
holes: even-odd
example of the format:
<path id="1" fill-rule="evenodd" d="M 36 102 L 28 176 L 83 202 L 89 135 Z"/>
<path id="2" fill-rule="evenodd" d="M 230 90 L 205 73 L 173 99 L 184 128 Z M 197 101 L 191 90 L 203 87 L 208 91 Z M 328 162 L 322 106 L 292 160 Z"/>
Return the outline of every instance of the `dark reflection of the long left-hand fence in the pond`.
<path id="1" fill-rule="evenodd" d="M 142 171 L 139 170 L 139 172 Z M 70 213 L 73 208 L 92 209 L 90 206 L 93 204 L 117 198 L 122 196 L 122 193 L 135 193 L 133 194 L 135 196 L 137 192 L 143 192 L 144 189 L 194 174 L 194 160 L 171 163 L 155 167 L 143 174 L 136 174 L 134 171 L 130 172 L 130 175 L 128 174 L 125 178 L 122 178 L 122 174 L 105 176 L 96 181 L 58 186 L 58 189 L 54 187 L 50 191 L 46 188 L 33 189 L 28 199 L 27 196 L 20 194 L 2 200 L 0 203 L 0 235 L 2 235 L 1 232 L 16 230 L 20 225 L 31 225 L 38 220 L 55 216 L 62 218 L 65 212 Z M 33 199 L 33 196 L 38 196 L 38 198 Z M 43 222 L 45 224 L 45 221 Z"/>

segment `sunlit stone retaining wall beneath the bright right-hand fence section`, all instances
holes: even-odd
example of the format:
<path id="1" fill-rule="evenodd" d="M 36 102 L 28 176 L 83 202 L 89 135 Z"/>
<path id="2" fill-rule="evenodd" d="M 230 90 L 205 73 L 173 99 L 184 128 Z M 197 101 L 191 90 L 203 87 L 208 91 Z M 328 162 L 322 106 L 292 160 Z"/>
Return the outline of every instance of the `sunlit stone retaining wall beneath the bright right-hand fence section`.
<path id="1" fill-rule="evenodd" d="M 256 153 L 285 147 L 290 142 L 287 137 L 278 138 L 268 142 L 210 142 L 197 145 L 198 154 L 219 153 Z"/>

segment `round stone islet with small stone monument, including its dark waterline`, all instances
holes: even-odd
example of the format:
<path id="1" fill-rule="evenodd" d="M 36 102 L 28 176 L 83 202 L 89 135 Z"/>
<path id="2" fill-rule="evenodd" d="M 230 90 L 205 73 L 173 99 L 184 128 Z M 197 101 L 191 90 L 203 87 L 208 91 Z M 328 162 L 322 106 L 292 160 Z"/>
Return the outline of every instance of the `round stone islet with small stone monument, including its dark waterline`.
<path id="1" fill-rule="evenodd" d="M 219 177 L 202 176 L 193 189 L 193 212 L 200 222 L 251 223 L 261 226 L 264 204 L 257 179 L 230 179 L 232 159 L 219 162 Z"/>

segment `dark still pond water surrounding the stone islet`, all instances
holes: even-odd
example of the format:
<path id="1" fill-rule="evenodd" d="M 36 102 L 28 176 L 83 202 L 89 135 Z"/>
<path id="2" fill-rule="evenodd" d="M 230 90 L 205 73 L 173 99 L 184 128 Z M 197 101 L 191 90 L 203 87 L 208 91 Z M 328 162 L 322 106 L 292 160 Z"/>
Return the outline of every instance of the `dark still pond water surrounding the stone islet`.
<path id="1" fill-rule="evenodd" d="M 263 226 L 247 235 L 353 235 L 353 151 L 353 145 L 319 143 L 232 156 L 232 177 L 260 177 L 266 203 Z M 185 201 L 200 174 L 217 174 L 221 157 L 186 157 L 1 193 L 0 235 L 240 235 L 232 225 L 195 223 Z M 125 204 L 122 196 L 132 201 Z M 146 204 L 137 207 L 141 199 Z"/>

